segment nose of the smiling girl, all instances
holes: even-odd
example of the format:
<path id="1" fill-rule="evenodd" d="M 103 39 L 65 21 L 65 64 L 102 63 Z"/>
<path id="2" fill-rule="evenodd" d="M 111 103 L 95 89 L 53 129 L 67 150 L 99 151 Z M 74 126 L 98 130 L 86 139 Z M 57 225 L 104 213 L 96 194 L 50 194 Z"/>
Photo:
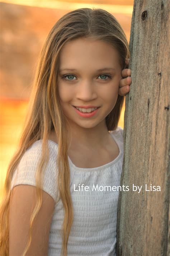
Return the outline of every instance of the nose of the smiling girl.
<path id="1" fill-rule="evenodd" d="M 95 88 L 95 84 L 90 82 L 89 80 L 84 80 L 77 86 L 77 99 L 81 99 L 82 101 L 90 102 L 93 99 L 96 99 L 97 92 Z"/>

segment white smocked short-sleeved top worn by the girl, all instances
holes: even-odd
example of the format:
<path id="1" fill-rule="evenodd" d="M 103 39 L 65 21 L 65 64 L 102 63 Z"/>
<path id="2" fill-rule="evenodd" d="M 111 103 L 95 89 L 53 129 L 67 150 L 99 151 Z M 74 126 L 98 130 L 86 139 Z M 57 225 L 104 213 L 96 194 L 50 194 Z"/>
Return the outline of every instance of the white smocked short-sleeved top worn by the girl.
<path id="1" fill-rule="evenodd" d="M 69 159 L 70 191 L 74 209 L 69 240 L 68 256 L 115 256 L 117 202 L 123 163 L 123 129 L 117 127 L 110 135 L 119 147 L 119 155 L 112 162 L 96 168 L 78 168 Z M 55 201 L 55 211 L 49 234 L 48 256 L 61 254 L 61 227 L 63 223 L 63 205 L 58 201 L 56 158 L 57 147 L 48 140 L 49 162 L 45 171 L 43 190 Z M 42 140 L 31 145 L 24 153 L 13 174 L 11 189 L 19 184 L 36 186 L 34 177 L 38 159 L 41 157 Z M 16 178 L 16 180 L 14 180 Z M 15 184 L 14 184 L 15 182 Z M 75 184 L 75 185 L 74 185 Z M 80 189 L 83 186 L 83 191 Z M 86 190 L 84 189 L 85 186 Z M 110 186 L 110 187 L 105 187 Z M 114 189 L 112 189 L 112 186 Z M 78 191 L 76 191 L 78 190 Z"/>

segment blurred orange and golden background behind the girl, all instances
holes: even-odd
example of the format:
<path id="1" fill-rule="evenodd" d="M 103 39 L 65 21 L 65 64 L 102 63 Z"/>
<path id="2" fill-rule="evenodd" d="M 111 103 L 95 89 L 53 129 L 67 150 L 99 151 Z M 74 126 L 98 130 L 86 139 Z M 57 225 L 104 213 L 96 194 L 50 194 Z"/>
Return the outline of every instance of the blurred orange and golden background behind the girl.
<path id="1" fill-rule="evenodd" d="M 112 13 L 129 42 L 133 0 L 0 2 L 0 202 L 8 164 L 22 130 L 41 47 L 60 17 L 74 9 L 93 7 Z M 122 128 L 124 107 L 118 124 Z"/>

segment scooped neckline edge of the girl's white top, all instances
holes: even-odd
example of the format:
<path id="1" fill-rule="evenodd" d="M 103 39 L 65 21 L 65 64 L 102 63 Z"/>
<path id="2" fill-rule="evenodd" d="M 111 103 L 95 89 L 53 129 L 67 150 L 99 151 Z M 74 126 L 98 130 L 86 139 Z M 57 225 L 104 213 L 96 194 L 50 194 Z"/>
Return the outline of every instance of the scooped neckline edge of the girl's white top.
<path id="1" fill-rule="evenodd" d="M 77 170 L 77 171 L 99 171 L 99 170 L 101 170 L 101 169 L 107 169 L 108 167 L 113 166 L 113 165 L 114 165 L 115 163 L 117 163 L 118 160 L 122 157 L 122 149 L 121 149 L 121 146 L 120 146 L 120 142 L 119 142 L 119 140 L 117 139 L 117 137 L 115 136 L 114 132 L 115 132 L 115 130 L 109 132 L 110 136 L 112 136 L 112 138 L 114 139 L 115 143 L 117 144 L 117 146 L 118 146 L 118 148 L 119 148 L 119 154 L 118 154 L 118 156 L 117 156 L 114 160 L 112 160 L 111 162 L 106 163 L 106 164 L 104 164 L 104 165 L 102 165 L 102 166 L 98 166 L 98 167 L 94 167 L 94 168 L 82 168 L 82 167 L 77 167 L 77 166 L 75 166 L 75 164 L 72 163 L 72 161 L 71 161 L 71 159 L 70 159 L 70 157 L 69 157 L 69 155 L 68 155 L 68 160 L 69 160 L 70 165 L 71 165 L 75 170 Z M 53 141 L 53 140 L 48 140 L 48 141 L 49 141 L 49 143 L 51 143 L 51 145 L 58 146 L 58 144 L 57 144 L 55 141 Z"/>

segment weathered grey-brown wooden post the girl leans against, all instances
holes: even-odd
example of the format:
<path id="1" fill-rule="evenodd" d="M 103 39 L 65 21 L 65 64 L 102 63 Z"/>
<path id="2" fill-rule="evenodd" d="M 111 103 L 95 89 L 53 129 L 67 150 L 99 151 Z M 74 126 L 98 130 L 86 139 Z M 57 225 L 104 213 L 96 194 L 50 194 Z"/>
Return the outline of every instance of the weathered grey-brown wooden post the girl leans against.
<path id="1" fill-rule="evenodd" d="M 135 0 L 129 49 L 117 256 L 166 256 L 169 219 L 169 0 Z M 142 186 L 141 192 L 132 185 Z M 146 191 L 152 184 L 161 191 Z"/>

